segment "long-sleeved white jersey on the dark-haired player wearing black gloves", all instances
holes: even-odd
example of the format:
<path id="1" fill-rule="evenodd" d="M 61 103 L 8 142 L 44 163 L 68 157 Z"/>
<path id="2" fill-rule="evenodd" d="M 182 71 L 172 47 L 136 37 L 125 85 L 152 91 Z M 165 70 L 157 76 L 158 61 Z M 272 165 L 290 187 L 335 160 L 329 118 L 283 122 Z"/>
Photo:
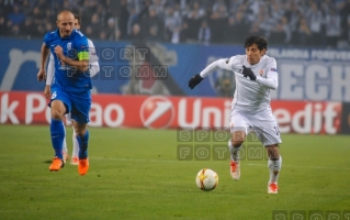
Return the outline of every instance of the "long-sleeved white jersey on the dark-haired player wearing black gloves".
<path id="1" fill-rule="evenodd" d="M 257 76 L 256 81 L 245 78 L 242 66 L 251 68 Z M 253 113 L 270 110 L 270 89 L 278 88 L 276 62 L 273 57 L 263 55 L 256 65 L 247 62 L 247 55 L 237 55 L 226 59 L 218 59 L 210 64 L 200 74 L 204 78 L 217 68 L 232 70 L 235 74 L 236 91 L 232 102 L 232 108 Z"/>

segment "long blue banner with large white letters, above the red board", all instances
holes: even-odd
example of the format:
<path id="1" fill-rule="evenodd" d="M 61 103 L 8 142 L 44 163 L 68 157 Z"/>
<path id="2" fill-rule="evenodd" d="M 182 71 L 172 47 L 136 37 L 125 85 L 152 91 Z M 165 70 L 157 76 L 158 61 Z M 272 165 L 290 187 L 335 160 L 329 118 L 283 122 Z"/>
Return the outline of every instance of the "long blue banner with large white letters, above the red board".
<path id="1" fill-rule="evenodd" d="M 0 90 L 43 91 L 36 80 L 42 41 L 0 38 Z M 218 69 L 195 89 L 189 79 L 210 63 L 245 54 L 242 46 L 94 42 L 100 73 L 93 92 L 233 97 L 235 78 Z M 269 47 L 278 62 L 279 88 L 272 99 L 350 101 L 350 52 Z"/>

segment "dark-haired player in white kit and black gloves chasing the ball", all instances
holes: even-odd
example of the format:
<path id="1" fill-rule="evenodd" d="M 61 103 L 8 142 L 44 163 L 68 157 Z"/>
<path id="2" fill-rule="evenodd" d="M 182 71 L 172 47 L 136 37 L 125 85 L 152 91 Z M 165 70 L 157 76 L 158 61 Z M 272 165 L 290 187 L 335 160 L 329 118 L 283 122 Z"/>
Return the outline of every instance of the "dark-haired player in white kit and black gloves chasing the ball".
<path id="1" fill-rule="evenodd" d="M 194 75 L 189 87 L 193 89 L 203 78 L 217 68 L 232 70 L 236 78 L 236 91 L 232 102 L 230 133 L 230 175 L 240 178 L 239 150 L 250 131 L 255 131 L 264 145 L 268 155 L 270 179 L 268 194 L 278 194 L 278 178 L 282 157 L 279 144 L 282 143 L 278 122 L 270 107 L 270 90 L 278 88 L 276 62 L 266 55 L 268 42 L 260 36 L 249 36 L 245 42 L 246 55 L 222 58 L 210 64 L 200 74 Z"/>

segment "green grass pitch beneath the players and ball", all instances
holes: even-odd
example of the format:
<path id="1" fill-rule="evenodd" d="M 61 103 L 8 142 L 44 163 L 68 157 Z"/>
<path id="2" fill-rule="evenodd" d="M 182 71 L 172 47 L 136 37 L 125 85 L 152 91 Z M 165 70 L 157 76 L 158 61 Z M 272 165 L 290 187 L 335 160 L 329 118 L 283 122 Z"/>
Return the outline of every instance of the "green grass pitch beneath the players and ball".
<path id="1" fill-rule="evenodd" d="M 267 161 L 178 161 L 176 130 L 90 128 L 90 169 L 50 173 L 47 125 L 0 125 L 0 219 L 271 219 L 273 210 L 349 210 L 350 139 L 283 134 L 280 193 L 267 194 Z M 71 128 L 67 128 L 71 152 Z M 225 143 L 226 144 L 226 143 Z M 218 174 L 206 193 L 201 168 Z"/>

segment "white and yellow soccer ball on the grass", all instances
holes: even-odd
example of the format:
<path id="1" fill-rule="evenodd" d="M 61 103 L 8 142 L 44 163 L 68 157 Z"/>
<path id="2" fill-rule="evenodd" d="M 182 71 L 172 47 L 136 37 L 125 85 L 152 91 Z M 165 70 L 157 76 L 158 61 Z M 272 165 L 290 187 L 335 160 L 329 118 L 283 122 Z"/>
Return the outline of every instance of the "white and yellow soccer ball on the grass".
<path id="1" fill-rule="evenodd" d="M 217 186 L 218 176 L 213 169 L 203 168 L 196 174 L 195 184 L 200 189 L 211 191 Z"/>

